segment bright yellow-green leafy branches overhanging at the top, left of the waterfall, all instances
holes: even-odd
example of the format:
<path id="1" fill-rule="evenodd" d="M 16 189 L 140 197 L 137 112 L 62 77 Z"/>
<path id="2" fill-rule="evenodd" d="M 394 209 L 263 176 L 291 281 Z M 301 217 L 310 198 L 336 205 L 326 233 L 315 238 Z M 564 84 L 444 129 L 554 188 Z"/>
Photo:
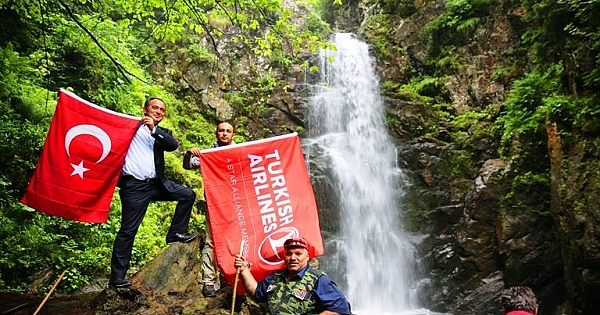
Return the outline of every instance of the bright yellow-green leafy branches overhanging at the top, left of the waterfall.
<path id="1" fill-rule="evenodd" d="M 242 44 L 255 55 L 269 57 L 274 52 L 284 54 L 288 51 L 293 55 L 291 58 L 304 49 L 314 51 L 323 45 L 322 23 L 313 20 L 309 27 L 295 27 L 290 22 L 293 12 L 277 0 L 210 0 L 202 4 L 112 0 L 110 5 L 99 5 L 97 13 L 126 20 L 123 25 L 133 26 L 132 32 L 159 42 L 177 43 L 184 34 L 195 34 L 208 37 L 217 44 L 220 38 L 227 36 L 228 40 Z M 215 55 L 223 53 L 218 51 L 217 45 L 211 48 Z"/>

